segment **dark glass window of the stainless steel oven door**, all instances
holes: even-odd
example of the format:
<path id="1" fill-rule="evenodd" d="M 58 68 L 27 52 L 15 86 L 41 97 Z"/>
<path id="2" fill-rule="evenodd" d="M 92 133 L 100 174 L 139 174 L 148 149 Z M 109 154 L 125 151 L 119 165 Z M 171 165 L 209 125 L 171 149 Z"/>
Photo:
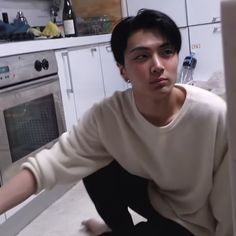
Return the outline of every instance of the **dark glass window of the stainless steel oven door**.
<path id="1" fill-rule="evenodd" d="M 52 94 L 6 109 L 4 119 L 12 162 L 59 136 Z"/>

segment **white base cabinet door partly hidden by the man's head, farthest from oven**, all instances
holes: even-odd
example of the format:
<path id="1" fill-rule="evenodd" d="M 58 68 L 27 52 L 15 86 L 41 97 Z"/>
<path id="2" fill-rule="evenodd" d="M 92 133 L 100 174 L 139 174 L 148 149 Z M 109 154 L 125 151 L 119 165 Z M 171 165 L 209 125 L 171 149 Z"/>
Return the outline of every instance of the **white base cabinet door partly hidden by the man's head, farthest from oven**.
<path id="1" fill-rule="evenodd" d="M 127 83 L 120 75 L 110 44 L 100 46 L 99 50 L 106 97 L 111 96 L 117 90 L 127 89 Z"/>

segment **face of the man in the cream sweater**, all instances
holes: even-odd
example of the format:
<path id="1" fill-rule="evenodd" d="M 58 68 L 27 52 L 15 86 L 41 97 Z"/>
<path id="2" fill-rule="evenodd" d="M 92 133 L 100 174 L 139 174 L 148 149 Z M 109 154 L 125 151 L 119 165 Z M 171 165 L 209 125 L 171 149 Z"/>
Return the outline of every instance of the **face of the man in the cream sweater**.
<path id="1" fill-rule="evenodd" d="M 177 53 L 157 31 L 140 30 L 129 37 L 120 69 L 134 95 L 162 99 L 176 82 L 177 66 Z"/>

